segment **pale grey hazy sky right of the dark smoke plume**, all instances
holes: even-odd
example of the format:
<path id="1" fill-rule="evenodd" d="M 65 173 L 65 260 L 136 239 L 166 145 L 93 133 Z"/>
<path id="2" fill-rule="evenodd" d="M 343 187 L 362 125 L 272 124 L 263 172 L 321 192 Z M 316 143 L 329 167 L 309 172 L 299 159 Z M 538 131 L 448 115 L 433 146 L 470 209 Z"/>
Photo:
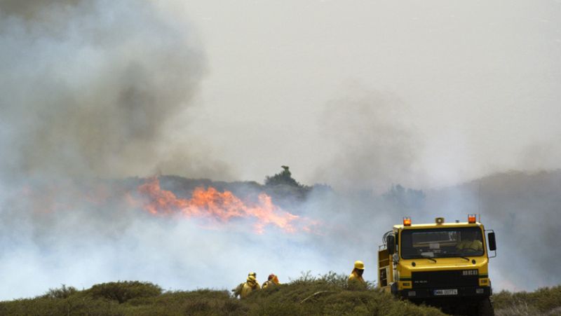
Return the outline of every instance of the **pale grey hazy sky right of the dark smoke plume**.
<path id="1" fill-rule="evenodd" d="M 561 1 L 164 6 L 208 63 L 177 137 L 203 139 L 234 178 L 284 164 L 305 183 L 358 167 L 366 187 L 440 186 L 560 167 Z"/>

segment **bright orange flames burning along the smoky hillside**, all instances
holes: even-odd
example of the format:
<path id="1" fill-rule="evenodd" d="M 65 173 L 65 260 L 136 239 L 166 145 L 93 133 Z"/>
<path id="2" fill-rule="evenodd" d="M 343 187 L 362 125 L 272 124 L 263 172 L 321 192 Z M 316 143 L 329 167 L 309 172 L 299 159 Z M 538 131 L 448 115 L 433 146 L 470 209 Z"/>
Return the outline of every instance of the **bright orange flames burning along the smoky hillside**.
<path id="1" fill-rule="evenodd" d="M 285 212 L 271 201 L 265 193 L 259 194 L 256 205 L 246 205 L 230 191 L 219 192 L 215 188 L 196 188 L 190 199 L 177 196 L 160 187 L 158 178 L 151 178 L 138 187 L 138 191 L 146 198 L 144 209 L 151 214 L 183 214 L 187 217 L 206 217 L 221 222 L 232 218 L 252 217 L 256 220 L 255 232 L 263 233 L 267 225 L 277 226 L 283 231 L 296 231 L 293 221 L 299 219 L 295 214 Z M 309 228 L 302 228 L 309 231 Z"/>

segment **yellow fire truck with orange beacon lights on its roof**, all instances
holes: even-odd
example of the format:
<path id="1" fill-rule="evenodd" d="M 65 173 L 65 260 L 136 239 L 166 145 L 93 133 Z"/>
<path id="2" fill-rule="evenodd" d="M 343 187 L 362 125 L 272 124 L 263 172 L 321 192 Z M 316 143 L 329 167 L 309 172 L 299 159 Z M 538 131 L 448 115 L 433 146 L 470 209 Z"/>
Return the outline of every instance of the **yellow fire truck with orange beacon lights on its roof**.
<path id="1" fill-rule="evenodd" d="M 494 315 L 489 258 L 496 256 L 495 234 L 485 231 L 475 214 L 467 222 L 437 217 L 433 224 L 412 224 L 405 217 L 382 239 L 379 287 L 445 312 Z"/>

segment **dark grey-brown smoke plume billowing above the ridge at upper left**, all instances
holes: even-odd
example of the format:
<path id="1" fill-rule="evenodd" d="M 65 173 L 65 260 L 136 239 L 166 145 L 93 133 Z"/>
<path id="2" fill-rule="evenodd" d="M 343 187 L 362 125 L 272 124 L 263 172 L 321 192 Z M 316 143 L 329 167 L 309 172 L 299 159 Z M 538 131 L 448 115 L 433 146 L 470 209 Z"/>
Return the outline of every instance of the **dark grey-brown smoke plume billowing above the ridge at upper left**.
<path id="1" fill-rule="evenodd" d="M 4 178 L 146 175 L 167 164 L 228 176 L 224 163 L 195 156 L 195 139 L 170 136 L 189 123 L 205 74 L 184 18 L 103 0 L 2 1 L 0 15 Z"/>

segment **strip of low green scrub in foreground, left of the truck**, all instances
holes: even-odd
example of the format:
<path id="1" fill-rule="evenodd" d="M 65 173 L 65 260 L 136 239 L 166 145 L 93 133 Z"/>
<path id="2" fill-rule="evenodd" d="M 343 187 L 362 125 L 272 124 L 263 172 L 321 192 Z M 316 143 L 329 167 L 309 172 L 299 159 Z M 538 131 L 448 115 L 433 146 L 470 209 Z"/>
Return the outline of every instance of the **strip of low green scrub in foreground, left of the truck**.
<path id="1" fill-rule="evenodd" d="M 69 290 L 72 289 L 72 290 Z M 243 300 L 229 291 L 165 291 L 147 282 L 110 282 L 78 291 L 50 289 L 36 298 L 0 302 L 0 315 L 444 315 L 347 284 L 346 275 L 305 273 Z"/>

